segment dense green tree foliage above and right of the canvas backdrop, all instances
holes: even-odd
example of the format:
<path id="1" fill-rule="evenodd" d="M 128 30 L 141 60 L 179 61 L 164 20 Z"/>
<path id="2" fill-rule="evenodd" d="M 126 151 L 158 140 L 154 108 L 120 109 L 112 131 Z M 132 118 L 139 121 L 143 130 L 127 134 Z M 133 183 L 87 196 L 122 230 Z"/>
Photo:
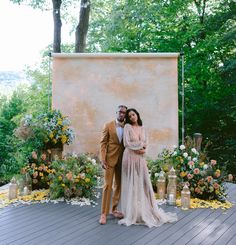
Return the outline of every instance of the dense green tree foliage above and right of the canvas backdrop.
<path id="1" fill-rule="evenodd" d="M 236 3 L 205 2 L 204 5 L 203 1 L 194 0 L 95 0 L 88 49 L 183 50 L 186 135 L 202 133 L 212 142 L 209 156 L 227 165 L 228 171 L 236 175 Z M 181 86 L 179 93 L 181 105 Z"/>

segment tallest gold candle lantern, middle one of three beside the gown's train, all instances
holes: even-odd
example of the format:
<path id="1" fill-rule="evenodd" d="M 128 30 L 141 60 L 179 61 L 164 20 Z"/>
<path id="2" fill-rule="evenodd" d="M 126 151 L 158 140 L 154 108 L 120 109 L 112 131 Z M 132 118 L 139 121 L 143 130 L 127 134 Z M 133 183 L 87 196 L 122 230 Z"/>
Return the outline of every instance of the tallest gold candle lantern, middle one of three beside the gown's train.
<path id="1" fill-rule="evenodd" d="M 168 174 L 168 185 L 167 185 L 167 203 L 169 205 L 176 204 L 176 174 L 172 167 Z"/>

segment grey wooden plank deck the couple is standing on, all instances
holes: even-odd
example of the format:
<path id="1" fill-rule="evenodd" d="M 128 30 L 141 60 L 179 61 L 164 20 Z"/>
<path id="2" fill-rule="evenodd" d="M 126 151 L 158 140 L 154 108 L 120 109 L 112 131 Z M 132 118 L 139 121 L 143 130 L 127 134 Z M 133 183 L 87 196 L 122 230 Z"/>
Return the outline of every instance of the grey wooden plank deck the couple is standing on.
<path id="1" fill-rule="evenodd" d="M 236 202 L 236 185 L 228 186 L 229 200 Z M 236 244 L 236 205 L 229 210 L 163 208 L 177 212 L 178 222 L 149 229 L 120 226 L 111 217 L 101 226 L 100 204 L 7 207 L 0 210 L 0 244 Z"/>

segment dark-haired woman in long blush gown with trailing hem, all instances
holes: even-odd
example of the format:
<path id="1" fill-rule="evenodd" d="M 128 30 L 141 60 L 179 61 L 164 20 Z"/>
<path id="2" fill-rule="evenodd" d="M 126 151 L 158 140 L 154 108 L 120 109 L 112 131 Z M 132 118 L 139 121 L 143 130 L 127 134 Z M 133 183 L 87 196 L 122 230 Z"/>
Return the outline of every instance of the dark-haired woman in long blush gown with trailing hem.
<path id="1" fill-rule="evenodd" d="M 160 226 L 177 221 L 177 215 L 157 207 L 144 154 L 147 138 L 142 120 L 135 109 L 126 112 L 125 151 L 122 160 L 121 211 L 119 224 Z"/>

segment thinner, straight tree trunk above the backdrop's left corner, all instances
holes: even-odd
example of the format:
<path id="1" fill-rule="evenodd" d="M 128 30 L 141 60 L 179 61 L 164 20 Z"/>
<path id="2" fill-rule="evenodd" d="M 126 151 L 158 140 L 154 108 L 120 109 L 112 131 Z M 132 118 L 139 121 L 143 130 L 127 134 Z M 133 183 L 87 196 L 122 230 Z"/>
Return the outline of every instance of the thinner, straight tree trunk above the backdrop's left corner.
<path id="1" fill-rule="evenodd" d="M 62 0 L 52 0 L 53 5 L 53 23 L 54 23 L 54 35 L 53 35 L 53 52 L 61 53 L 61 2 Z"/>

